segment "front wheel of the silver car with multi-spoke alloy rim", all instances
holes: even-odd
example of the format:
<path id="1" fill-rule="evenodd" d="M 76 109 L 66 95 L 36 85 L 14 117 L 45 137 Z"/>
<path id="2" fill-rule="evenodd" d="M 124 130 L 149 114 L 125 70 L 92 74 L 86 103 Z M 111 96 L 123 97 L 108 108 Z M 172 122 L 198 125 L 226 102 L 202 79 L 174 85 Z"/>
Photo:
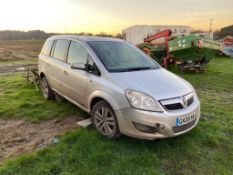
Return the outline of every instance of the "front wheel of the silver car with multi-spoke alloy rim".
<path id="1" fill-rule="evenodd" d="M 108 103 L 105 101 L 96 103 L 91 115 L 95 128 L 107 138 L 116 139 L 121 135 L 116 115 Z"/>

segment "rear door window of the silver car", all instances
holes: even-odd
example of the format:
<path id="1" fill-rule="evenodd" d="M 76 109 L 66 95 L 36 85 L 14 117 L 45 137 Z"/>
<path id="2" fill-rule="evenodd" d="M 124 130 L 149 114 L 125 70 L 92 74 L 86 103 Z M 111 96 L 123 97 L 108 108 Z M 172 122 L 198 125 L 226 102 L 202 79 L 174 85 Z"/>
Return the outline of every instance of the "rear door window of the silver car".
<path id="1" fill-rule="evenodd" d="M 69 48 L 70 41 L 68 40 L 57 40 L 53 52 L 53 57 L 65 61 Z"/>

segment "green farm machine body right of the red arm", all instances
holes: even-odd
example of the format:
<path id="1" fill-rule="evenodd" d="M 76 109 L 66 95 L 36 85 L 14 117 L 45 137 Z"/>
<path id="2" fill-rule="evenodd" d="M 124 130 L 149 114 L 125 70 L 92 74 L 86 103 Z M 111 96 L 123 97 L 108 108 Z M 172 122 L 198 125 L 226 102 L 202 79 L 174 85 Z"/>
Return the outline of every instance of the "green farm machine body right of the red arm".
<path id="1" fill-rule="evenodd" d="M 218 53 L 220 47 L 220 42 L 187 35 L 169 41 L 168 51 L 181 62 L 178 66 L 181 72 L 186 70 L 202 72 L 205 71 L 206 64 Z"/>

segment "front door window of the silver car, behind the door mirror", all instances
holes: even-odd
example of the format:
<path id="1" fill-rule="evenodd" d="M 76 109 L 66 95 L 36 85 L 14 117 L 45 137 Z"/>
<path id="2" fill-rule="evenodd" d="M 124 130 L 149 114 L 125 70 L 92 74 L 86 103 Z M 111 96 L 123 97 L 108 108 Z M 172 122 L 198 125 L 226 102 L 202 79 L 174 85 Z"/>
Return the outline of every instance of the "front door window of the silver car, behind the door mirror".
<path id="1" fill-rule="evenodd" d="M 87 63 L 87 51 L 78 42 L 71 41 L 67 62 L 72 63 Z"/>

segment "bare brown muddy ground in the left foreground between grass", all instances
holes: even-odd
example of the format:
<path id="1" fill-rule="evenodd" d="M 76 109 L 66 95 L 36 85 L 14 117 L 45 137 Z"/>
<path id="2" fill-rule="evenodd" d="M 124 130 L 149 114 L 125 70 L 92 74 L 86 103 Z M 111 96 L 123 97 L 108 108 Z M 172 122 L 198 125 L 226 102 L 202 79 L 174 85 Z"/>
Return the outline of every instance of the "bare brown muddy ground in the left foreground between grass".
<path id="1" fill-rule="evenodd" d="M 9 157 L 45 147 L 56 141 L 54 136 L 76 128 L 79 120 L 75 116 L 41 123 L 0 119 L 0 163 Z"/>

